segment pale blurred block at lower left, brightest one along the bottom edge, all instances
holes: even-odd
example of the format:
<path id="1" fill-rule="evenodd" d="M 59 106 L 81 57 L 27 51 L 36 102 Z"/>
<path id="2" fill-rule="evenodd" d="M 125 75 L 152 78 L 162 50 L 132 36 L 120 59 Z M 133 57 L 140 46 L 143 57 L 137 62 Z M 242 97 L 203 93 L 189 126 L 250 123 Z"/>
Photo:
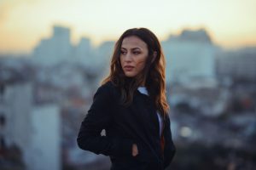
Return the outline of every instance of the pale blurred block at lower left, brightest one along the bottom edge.
<path id="1" fill-rule="evenodd" d="M 27 170 L 61 170 L 61 118 L 57 105 L 32 111 L 32 134 Z"/>

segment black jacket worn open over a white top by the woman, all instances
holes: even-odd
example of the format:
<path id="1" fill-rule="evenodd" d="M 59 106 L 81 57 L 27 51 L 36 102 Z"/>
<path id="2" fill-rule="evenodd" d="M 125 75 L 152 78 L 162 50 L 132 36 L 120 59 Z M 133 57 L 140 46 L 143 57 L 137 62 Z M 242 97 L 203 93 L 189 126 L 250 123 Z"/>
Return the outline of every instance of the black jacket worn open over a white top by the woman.
<path id="1" fill-rule="evenodd" d="M 125 107 L 119 104 L 119 98 L 119 89 L 112 82 L 97 89 L 81 123 L 77 139 L 79 147 L 110 156 L 112 170 L 166 168 L 175 154 L 169 116 L 164 125 L 165 147 L 162 151 L 159 121 L 152 99 L 136 91 L 132 104 Z M 101 135 L 102 129 L 106 136 Z M 132 144 L 137 144 L 137 156 L 131 156 Z"/>

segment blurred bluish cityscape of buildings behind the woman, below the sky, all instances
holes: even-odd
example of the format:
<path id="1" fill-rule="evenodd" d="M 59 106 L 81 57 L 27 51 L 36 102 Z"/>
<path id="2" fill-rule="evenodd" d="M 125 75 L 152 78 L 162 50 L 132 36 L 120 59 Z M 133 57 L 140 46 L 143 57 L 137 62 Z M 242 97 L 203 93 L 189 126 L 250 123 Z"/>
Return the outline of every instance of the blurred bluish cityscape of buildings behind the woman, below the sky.
<path id="1" fill-rule="evenodd" d="M 107 170 L 80 150 L 79 126 L 114 42 L 98 47 L 54 26 L 32 54 L 0 55 L 0 169 Z M 168 169 L 256 169 L 256 47 L 225 49 L 205 29 L 161 42 L 177 154 Z"/>

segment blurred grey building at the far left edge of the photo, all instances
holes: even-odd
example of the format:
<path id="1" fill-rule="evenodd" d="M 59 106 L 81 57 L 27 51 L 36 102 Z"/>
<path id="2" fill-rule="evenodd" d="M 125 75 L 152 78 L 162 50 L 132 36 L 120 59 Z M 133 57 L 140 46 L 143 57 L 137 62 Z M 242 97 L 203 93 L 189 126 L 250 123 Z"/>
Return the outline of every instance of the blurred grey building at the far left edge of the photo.
<path id="1" fill-rule="evenodd" d="M 32 84 L 1 83 L 1 147 L 17 147 L 27 163 L 32 139 Z"/>

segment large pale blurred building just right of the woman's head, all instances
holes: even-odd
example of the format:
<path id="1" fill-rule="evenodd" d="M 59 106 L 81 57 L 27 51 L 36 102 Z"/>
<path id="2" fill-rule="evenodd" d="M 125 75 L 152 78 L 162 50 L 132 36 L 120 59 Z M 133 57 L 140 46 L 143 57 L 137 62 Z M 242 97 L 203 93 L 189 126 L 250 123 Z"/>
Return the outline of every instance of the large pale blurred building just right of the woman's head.
<path id="1" fill-rule="evenodd" d="M 166 82 L 185 87 L 214 87 L 215 52 L 211 37 L 204 29 L 183 30 L 162 42 L 166 55 Z"/>

